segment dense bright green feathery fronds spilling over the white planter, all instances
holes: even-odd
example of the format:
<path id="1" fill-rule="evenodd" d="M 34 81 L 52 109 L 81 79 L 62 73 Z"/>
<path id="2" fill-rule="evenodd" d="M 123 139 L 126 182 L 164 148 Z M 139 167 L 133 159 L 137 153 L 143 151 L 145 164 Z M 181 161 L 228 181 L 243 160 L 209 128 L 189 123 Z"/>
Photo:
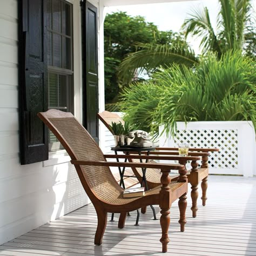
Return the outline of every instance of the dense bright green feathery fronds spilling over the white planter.
<path id="1" fill-rule="evenodd" d="M 158 133 L 173 134 L 176 122 L 252 120 L 256 127 L 256 63 L 240 51 L 208 53 L 193 69 L 172 65 L 152 79 L 125 89 L 125 120 Z"/>

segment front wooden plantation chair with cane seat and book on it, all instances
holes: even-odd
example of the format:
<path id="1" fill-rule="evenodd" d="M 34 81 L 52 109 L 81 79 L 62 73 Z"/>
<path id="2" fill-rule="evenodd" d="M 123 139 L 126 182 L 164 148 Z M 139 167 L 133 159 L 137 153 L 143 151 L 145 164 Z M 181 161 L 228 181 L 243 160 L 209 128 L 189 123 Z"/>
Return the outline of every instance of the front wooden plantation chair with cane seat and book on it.
<path id="1" fill-rule="evenodd" d="M 38 113 L 38 117 L 49 127 L 69 153 L 71 163 L 75 165 L 84 190 L 95 207 L 98 217 L 95 244 L 102 244 L 108 212 L 120 213 L 118 227 L 123 228 L 127 212 L 147 205 L 158 204 L 161 208 L 160 225 L 162 236 L 160 242 L 162 243 L 162 251 L 167 252 L 170 224 L 169 209 L 173 201 L 178 198 L 181 232 L 184 231 L 186 223 L 187 178 L 184 165 L 107 162 L 95 140 L 71 113 L 48 110 L 47 112 Z M 114 155 L 113 157 L 116 158 Z M 145 157 L 141 156 L 141 158 Z M 146 191 L 143 197 L 123 198 L 124 190 L 114 179 L 109 166 L 160 169 L 162 173 L 161 185 Z M 177 181 L 170 182 L 169 173 L 171 170 L 179 171 L 180 175 Z"/>

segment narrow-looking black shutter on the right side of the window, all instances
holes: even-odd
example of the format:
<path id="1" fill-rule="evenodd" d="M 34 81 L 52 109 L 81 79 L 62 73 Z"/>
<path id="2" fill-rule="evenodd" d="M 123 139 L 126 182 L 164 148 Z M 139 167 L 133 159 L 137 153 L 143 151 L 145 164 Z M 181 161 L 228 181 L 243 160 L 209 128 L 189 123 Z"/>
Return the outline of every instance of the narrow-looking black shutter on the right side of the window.
<path id="1" fill-rule="evenodd" d="M 96 142 L 98 132 L 98 24 L 97 8 L 82 2 L 83 31 L 83 120 L 86 130 Z"/>

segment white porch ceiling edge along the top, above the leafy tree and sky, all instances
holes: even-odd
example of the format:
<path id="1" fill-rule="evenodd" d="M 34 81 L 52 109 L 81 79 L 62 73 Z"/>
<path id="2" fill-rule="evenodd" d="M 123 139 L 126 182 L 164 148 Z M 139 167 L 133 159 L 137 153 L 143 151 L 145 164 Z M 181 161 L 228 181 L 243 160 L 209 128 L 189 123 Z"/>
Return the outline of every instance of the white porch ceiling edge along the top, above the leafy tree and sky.
<path id="1" fill-rule="evenodd" d="M 103 0 L 104 6 L 135 5 L 135 4 L 156 4 L 170 2 L 185 2 L 188 0 Z M 196 0 L 190 0 L 196 1 Z"/>

